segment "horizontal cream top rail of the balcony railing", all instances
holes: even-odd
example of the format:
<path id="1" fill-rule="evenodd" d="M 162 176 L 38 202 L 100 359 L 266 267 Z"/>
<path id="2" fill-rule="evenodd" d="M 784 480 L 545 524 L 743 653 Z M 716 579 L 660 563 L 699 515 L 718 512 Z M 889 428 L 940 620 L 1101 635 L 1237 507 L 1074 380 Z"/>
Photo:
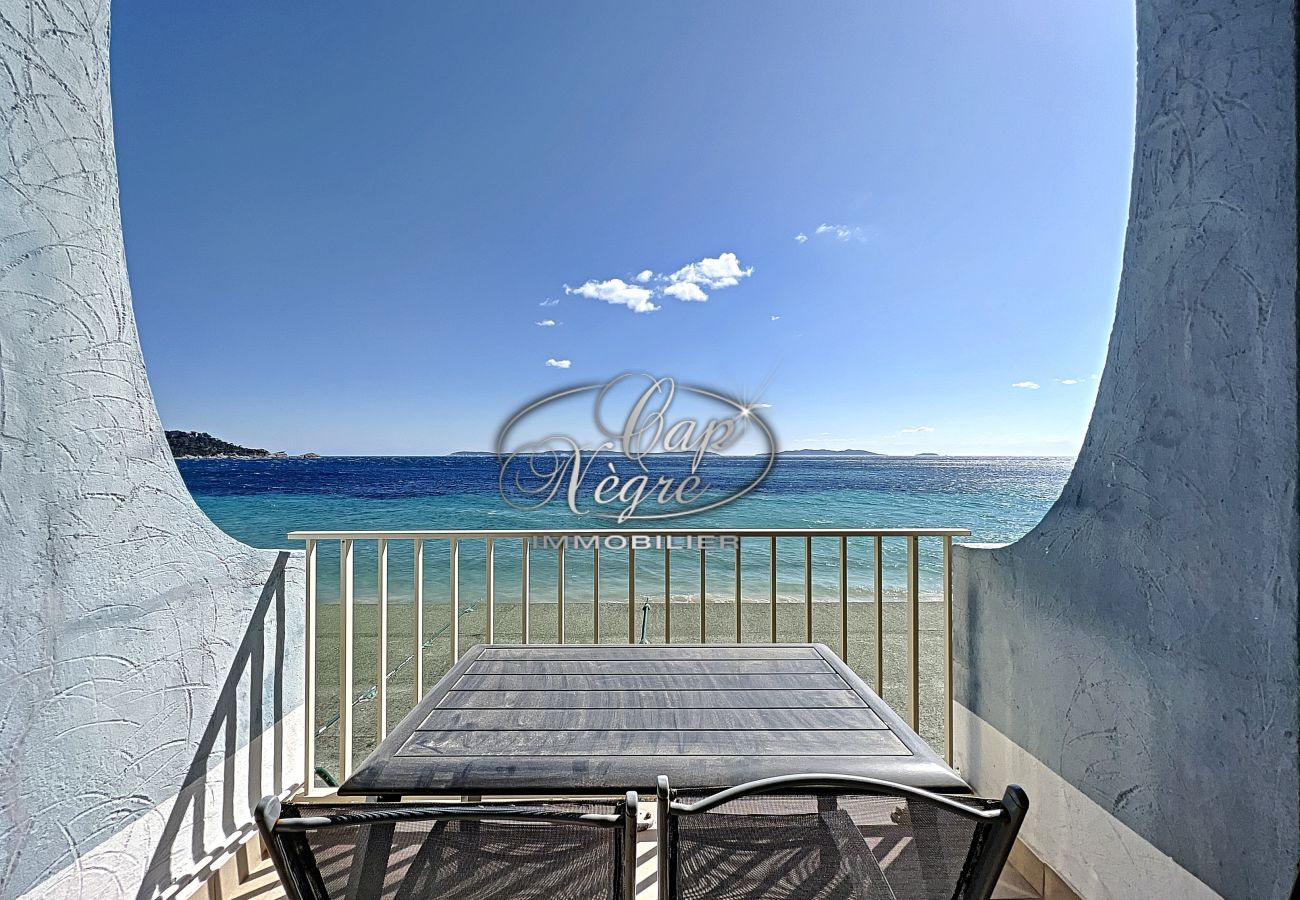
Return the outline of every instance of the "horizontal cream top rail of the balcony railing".
<path id="1" fill-rule="evenodd" d="M 476 531 L 291 531 L 291 541 L 507 537 L 966 537 L 968 528 L 524 528 Z"/>

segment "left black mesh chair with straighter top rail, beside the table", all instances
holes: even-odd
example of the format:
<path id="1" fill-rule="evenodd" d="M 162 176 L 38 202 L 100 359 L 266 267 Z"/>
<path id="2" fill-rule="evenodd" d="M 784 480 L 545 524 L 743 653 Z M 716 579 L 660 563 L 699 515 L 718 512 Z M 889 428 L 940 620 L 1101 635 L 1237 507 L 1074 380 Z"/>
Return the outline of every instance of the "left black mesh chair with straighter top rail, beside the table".
<path id="1" fill-rule="evenodd" d="M 637 795 L 619 804 L 257 804 L 290 900 L 633 900 Z"/>

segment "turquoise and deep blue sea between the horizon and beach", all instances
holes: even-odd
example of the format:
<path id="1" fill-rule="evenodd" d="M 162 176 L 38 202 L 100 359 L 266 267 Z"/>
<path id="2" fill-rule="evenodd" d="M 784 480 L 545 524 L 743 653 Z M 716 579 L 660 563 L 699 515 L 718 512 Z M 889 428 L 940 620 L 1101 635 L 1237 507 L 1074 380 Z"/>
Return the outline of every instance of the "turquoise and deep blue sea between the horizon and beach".
<path id="1" fill-rule="evenodd" d="M 498 467 L 482 457 L 335 457 L 326 459 L 211 459 L 178 460 L 199 506 L 233 537 L 260 548 L 294 548 L 285 536 L 295 529 L 480 529 L 480 528 L 601 528 L 612 523 L 577 518 L 559 503 L 521 511 L 498 493 Z M 728 486 L 728 470 L 737 484 L 751 477 L 753 460 L 712 463 L 712 483 Z M 663 523 L 627 527 L 664 528 L 909 528 L 959 527 L 968 542 L 1008 542 L 1032 528 L 1060 496 L 1072 460 L 1058 457 L 855 457 L 781 458 L 771 476 L 751 494 L 705 514 Z M 720 470 L 720 471 L 719 471 Z M 768 541 L 745 542 L 741 587 L 745 598 L 770 596 Z M 922 541 L 920 588 L 927 596 L 941 589 L 941 542 Z M 849 541 L 850 600 L 874 594 L 872 541 Z M 814 540 L 815 600 L 838 598 L 838 542 Z M 529 590 L 546 602 L 556 593 L 554 550 L 530 553 Z M 502 541 L 495 549 L 495 596 L 521 593 L 520 542 Z M 897 597 L 906 584 L 906 551 L 901 540 L 885 541 L 885 592 Z M 426 602 L 450 598 L 447 544 L 425 549 Z M 459 592 L 463 603 L 485 593 L 486 557 L 478 541 L 460 544 Z M 628 596 L 627 555 L 601 554 L 602 598 Z M 320 545 L 320 598 L 338 597 L 338 550 Z M 355 590 L 359 600 L 376 596 L 377 555 L 373 542 L 355 550 Z M 412 590 L 412 548 L 390 544 L 389 590 L 395 602 Z M 777 549 L 777 593 L 781 600 L 803 598 L 802 538 L 781 541 Z M 592 598 L 592 553 L 566 554 L 567 601 Z M 694 598 L 699 590 L 699 553 L 672 554 L 671 592 Z M 734 597 L 734 555 L 708 554 L 710 600 Z M 636 596 L 662 600 L 663 551 L 637 554 Z"/>

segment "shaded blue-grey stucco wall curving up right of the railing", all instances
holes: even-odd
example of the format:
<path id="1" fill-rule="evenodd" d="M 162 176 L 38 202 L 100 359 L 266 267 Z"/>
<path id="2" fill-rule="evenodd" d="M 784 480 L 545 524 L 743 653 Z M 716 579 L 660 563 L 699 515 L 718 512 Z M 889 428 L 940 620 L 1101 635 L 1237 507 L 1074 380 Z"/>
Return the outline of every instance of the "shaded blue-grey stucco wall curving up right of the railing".
<path id="1" fill-rule="evenodd" d="M 976 727 L 1248 900 L 1287 896 L 1300 853 L 1292 14 L 1138 4 L 1128 232 L 1088 436 L 1032 533 L 954 561 Z M 1044 800 L 1031 845 L 1052 843 Z M 1044 854 L 1088 896 L 1174 893 L 1124 840 L 1098 858 L 1057 826 Z"/>

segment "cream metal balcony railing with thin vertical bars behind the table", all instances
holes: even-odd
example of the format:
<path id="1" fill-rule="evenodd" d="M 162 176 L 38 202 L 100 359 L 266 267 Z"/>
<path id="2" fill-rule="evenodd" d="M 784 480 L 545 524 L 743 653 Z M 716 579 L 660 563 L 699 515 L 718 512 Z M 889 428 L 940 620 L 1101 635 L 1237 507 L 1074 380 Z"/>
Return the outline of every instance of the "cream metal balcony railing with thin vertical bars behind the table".
<path id="1" fill-rule="evenodd" d="M 937 702 L 942 711 L 942 736 L 931 735 L 932 743 L 940 744 L 941 750 L 949 761 L 952 760 L 952 711 L 953 711 L 953 666 L 952 666 L 952 544 L 954 537 L 970 535 L 963 528 L 854 528 L 854 529 L 828 529 L 828 528 L 780 528 L 780 529 L 589 529 L 589 531 L 295 531 L 289 535 L 290 540 L 306 544 L 306 784 L 312 786 L 309 792 L 317 791 L 317 741 L 318 739 L 333 743 L 337 740 L 338 771 L 337 780 L 347 778 L 352 771 L 354 754 L 356 749 L 358 722 L 355 711 L 363 710 L 373 722 L 367 723 L 367 732 L 363 740 L 367 745 L 373 745 L 382 740 L 389 731 L 390 706 L 398 706 L 398 713 L 404 713 L 424 696 L 425 685 L 437 680 L 442 672 L 460 657 L 462 637 L 469 635 L 473 640 L 484 642 L 511 641 L 528 644 L 537 640 L 534 615 L 541 609 L 554 610 L 554 626 L 546 635 L 546 642 L 566 642 L 572 640 L 572 632 L 566 629 L 566 594 L 572 588 L 568 584 L 577 577 L 585 584 L 586 596 L 590 597 L 590 614 L 585 616 L 582 637 L 590 642 L 621 642 L 621 628 L 616 635 L 611 635 L 611 620 L 604 619 L 602 624 L 602 607 L 608 609 L 611 603 L 627 606 L 628 631 L 627 641 L 637 642 L 658 637 L 664 642 L 708 642 L 719 637 L 734 639 L 737 642 L 745 640 L 823 640 L 824 642 L 837 642 L 841 658 L 859 670 L 878 693 L 884 695 L 888 687 L 887 675 L 890 670 L 901 678 L 902 696 L 894 697 L 893 702 L 901 706 L 904 718 L 914 727 L 922 726 L 922 609 L 923 609 L 923 574 L 932 576 L 937 581 L 939 589 L 928 594 L 940 601 L 937 606 L 937 631 L 941 633 L 940 659 L 931 661 L 930 675 L 937 674 L 937 700 L 927 696 L 926 700 Z M 792 589 L 781 589 L 783 581 L 779 579 L 779 567 L 784 566 L 784 559 L 779 550 L 792 542 L 802 542 L 802 576 Z M 815 548 L 832 542 L 837 545 L 835 563 L 837 566 L 832 587 L 827 588 L 823 580 L 822 590 L 814 577 L 816 557 Z M 426 563 L 430 561 L 426 545 L 446 546 L 446 572 L 442 587 L 446 593 L 430 602 L 426 592 Z M 755 598 L 750 590 L 746 596 L 746 571 L 744 566 L 745 551 L 753 553 L 758 545 L 758 555 L 768 557 L 767 571 L 762 572 L 753 566 L 749 571 L 749 584 L 758 576 L 766 575 L 766 597 Z M 866 545 L 861 553 L 854 553 L 859 545 Z M 472 566 L 473 574 L 467 574 L 463 568 L 463 557 L 467 551 L 464 546 L 472 548 L 469 555 L 481 554 L 481 568 Z M 321 596 L 321 580 L 318 579 L 318 561 L 322 550 L 338 554 L 338 581 L 337 602 L 330 603 Z M 373 596 L 358 597 L 356 589 L 356 559 L 359 548 L 373 548 L 374 574 Z M 410 561 L 407 566 L 393 568 L 391 559 L 394 548 L 400 548 L 406 554 L 408 549 Z M 567 550 L 578 549 L 581 554 L 568 554 L 572 562 L 566 564 Z M 506 553 L 504 550 L 510 551 Z M 534 550 L 542 550 L 534 554 Z M 602 550 L 606 558 L 611 554 L 623 555 L 627 559 L 627 568 L 606 566 L 602 576 Z M 927 555 L 927 550 L 930 554 Z M 662 622 L 653 624 L 655 635 L 649 635 L 650 623 L 646 620 L 653 602 L 649 594 L 638 593 L 638 568 L 646 568 L 646 557 L 662 551 L 662 563 L 656 568 L 662 572 Z M 640 553 L 640 557 L 638 557 Z M 673 593 L 673 558 L 686 557 L 692 562 L 698 554 L 698 592 L 686 594 Z M 546 596 L 545 589 L 538 597 L 534 590 L 536 559 L 534 555 L 545 557 L 554 564 L 555 580 L 554 590 Z M 655 554 L 659 555 L 659 554 Z M 502 570 L 503 557 L 510 557 L 506 570 Z M 890 558 L 892 557 L 892 558 Z M 734 606 L 734 619 L 725 624 L 725 633 L 718 633 L 716 616 L 710 616 L 710 607 L 718 606 L 716 594 L 708 593 L 708 575 L 712 563 L 714 571 L 725 559 L 729 564 L 729 577 L 733 590 L 729 594 Z M 781 561 L 779 563 L 779 559 Z M 870 559 L 870 566 L 864 561 Z M 857 561 L 859 571 L 855 579 L 850 579 L 852 563 Z M 887 562 L 893 564 L 887 567 Z M 654 563 L 651 562 L 654 567 Z M 688 566 L 689 567 L 689 566 Z M 888 571 L 887 571 L 888 570 Z M 898 571 L 901 570 L 901 572 Z M 400 585 L 394 597 L 391 590 L 391 577 L 394 571 L 410 575 L 410 583 Z M 508 590 L 508 596 L 502 594 L 502 574 L 508 571 L 517 575 L 519 584 Z M 755 575 L 755 572 L 758 575 Z M 481 579 L 478 577 L 481 574 Z M 602 596 L 602 581 L 621 581 L 623 589 L 618 590 L 619 600 Z M 896 581 L 902 584 L 893 590 L 887 589 L 889 575 L 896 576 Z M 640 574 L 645 579 L 644 574 Z M 404 580 L 403 579 L 399 579 Z M 471 603 L 463 603 L 467 581 L 469 593 L 477 597 Z M 328 584 L 328 579 L 325 581 Z M 645 584 L 645 580 L 642 580 Z M 790 584 L 786 581 L 785 584 Z M 692 585 L 694 587 L 694 585 Z M 827 600 L 826 593 L 833 597 Z M 820 594 L 820 596 L 819 596 Z M 517 600 L 515 600 L 517 597 Z M 569 592 L 569 597 L 572 593 Z M 902 623 L 902 661 L 890 661 L 887 653 L 887 600 L 897 598 L 904 607 Z M 638 600 L 644 601 L 638 606 Z M 689 606 L 698 603 L 698 620 L 694 616 L 680 618 L 675 615 L 673 606 Z M 802 605 L 802 623 L 780 622 L 780 610 Z M 835 640 L 826 640 L 819 632 L 815 610 L 819 605 L 837 605 L 837 616 L 823 616 L 820 628 L 831 629 L 833 626 Z M 481 606 L 480 606 L 481 605 Z M 584 603 L 585 605 L 585 603 Z M 757 618 L 757 611 L 762 606 L 768 607 L 768 615 L 763 616 L 762 626 Z M 502 618 L 504 606 L 517 606 L 516 615 L 510 619 Z M 365 611 L 367 622 L 373 622 L 373 646 L 368 640 L 359 644 L 356 614 L 358 609 Z M 372 610 L 373 607 L 373 610 Z M 928 607 L 927 607 L 928 609 Z M 393 613 L 399 610 L 403 622 L 394 633 Z M 573 605 L 569 605 L 572 613 Z M 481 613 L 471 624 L 462 622 L 471 614 Z M 638 613 L 641 620 L 638 622 Z M 746 615 L 746 613 L 749 615 Z M 429 616 L 445 618 L 442 628 L 426 635 Z M 322 616 L 337 619 L 333 627 L 322 631 Z M 547 616 L 549 618 L 549 616 Z M 572 618 L 569 615 L 568 618 Z M 927 614 L 933 619 L 933 614 Z M 715 619 L 715 620 L 711 620 Z M 731 616 L 728 616 L 731 619 Z M 589 627 L 588 624 L 589 623 Z M 802 624 L 802 627 L 800 627 Z M 870 633 L 870 665 L 854 665 L 850 659 L 850 632 L 854 624 L 861 624 Z M 662 631 L 660 631 L 662 626 Z M 733 626 L 733 628 L 732 628 Z M 576 628 L 575 628 L 576 629 Z M 640 633 L 638 633 L 640 631 Z M 368 639 L 368 631 L 363 639 Z M 325 637 L 322 642 L 321 639 Z M 404 653 L 398 666 L 390 663 L 390 642 L 399 639 Z M 894 637 L 890 641 L 896 640 Z M 333 648 L 332 641 L 337 641 Z M 589 642 L 581 640 L 578 642 Z M 337 698 L 333 691 L 325 688 L 318 682 L 321 674 L 320 662 L 322 648 L 334 649 L 337 659 L 330 661 L 330 666 L 337 671 Z M 360 695 L 356 693 L 356 666 L 358 650 L 368 657 L 373 666 L 374 684 Z M 426 650 L 430 653 L 426 654 Z M 373 659 L 369 657 L 373 655 Z M 434 671 L 428 672 L 426 667 L 430 655 L 437 661 Z M 859 661 L 861 662 L 861 661 Z M 901 666 L 901 671 L 898 671 Z M 867 671 L 861 671 L 867 668 Z M 936 672 L 935 670 L 939 670 Z M 410 684 L 399 695 L 394 695 L 390 683 L 400 684 L 410 678 Z M 404 698 L 403 698 L 404 697 Z M 321 709 L 321 705 L 329 704 Z M 321 723 L 322 713 L 337 702 L 337 711 Z M 369 715 L 373 710 L 373 717 Z M 400 718 L 396 715 L 395 718 Z M 337 727 L 337 737 L 333 732 Z"/>

